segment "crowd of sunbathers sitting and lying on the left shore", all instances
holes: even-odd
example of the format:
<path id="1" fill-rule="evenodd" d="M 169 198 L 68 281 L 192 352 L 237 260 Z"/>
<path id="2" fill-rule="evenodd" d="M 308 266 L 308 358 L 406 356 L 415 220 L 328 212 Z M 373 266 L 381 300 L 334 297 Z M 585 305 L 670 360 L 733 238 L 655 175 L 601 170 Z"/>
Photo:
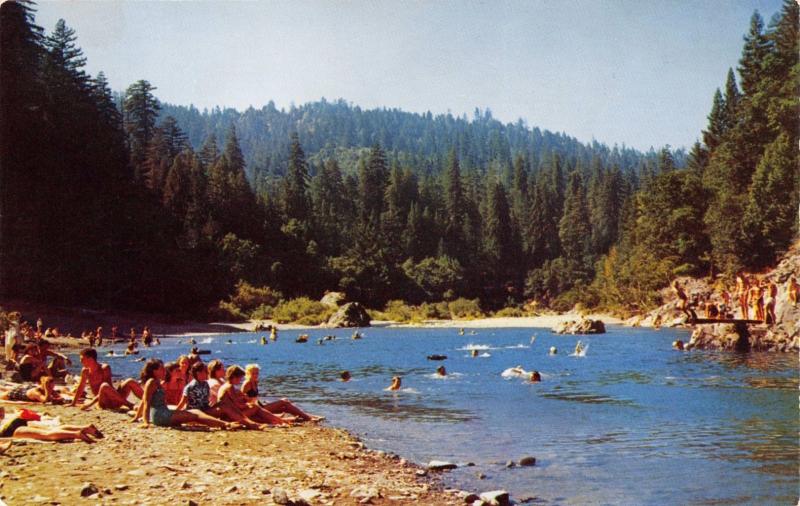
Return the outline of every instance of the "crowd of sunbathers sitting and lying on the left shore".
<path id="1" fill-rule="evenodd" d="M 0 380 L 0 401 L 4 405 L 52 403 L 82 410 L 124 410 L 134 422 L 141 421 L 144 428 L 195 424 L 227 430 L 264 430 L 322 420 L 288 399 L 261 398 L 257 364 L 244 368 L 226 367 L 220 360 L 206 364 L 194 349 L 167 364 L 151 358 L 144 363 L 139 378 L 115 381 L 111 366 L 100 362 L 97 350 L 89 346 L 80 352 L 80 375 L 72 378 L 67 369 L 70 359 L 51 349 L 41 319 L 36 331 L 32 331 L 19 314 L 14 318 L 12 314 L 10 329 L 2 336 L 6 352 L 2 377 L 9 379 Z M 52 329 L 48 330 L 52 335 Z M 117 339 L 115 330 L 110 339 Z M 147 327 L 141 338 L 145 346 L 158 342 Z M 90 344 L 99 346 L 102 342 L 102 328 L 98 328 L 92 333 Z M 126 354 L 138 353 L 136 347 L 137 335 L 131 329 Z M 0 438 L 94 442 L 102 437 L 94 425 L 49 424 L 30 409 L 6 413 L 0 405 Z M 7 447 L 0 445 L 0 453 Z"/>

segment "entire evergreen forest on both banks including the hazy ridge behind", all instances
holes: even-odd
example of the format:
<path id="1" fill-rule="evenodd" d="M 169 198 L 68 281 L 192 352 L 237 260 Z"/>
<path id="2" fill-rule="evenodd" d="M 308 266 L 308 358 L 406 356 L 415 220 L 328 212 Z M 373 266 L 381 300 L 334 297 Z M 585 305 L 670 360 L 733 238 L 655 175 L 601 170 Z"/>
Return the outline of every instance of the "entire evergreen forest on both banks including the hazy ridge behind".
<path id="1" fill-rule="evenodd" d="M 268 316 L 337 290 L 370 307 L 641 309 L 677 274 L 768 265 L 797 233 L 791 0 L 768 28 L 754 15 L 739 83 L 730 71 L 688 155 L 480 111 L 200 113 L 145 80 L 115 97 L 63 21 L 45 35 L 31 4 L 0 14 L 6 298 L 197 314 L 236 291 L 220 307 Z"/>

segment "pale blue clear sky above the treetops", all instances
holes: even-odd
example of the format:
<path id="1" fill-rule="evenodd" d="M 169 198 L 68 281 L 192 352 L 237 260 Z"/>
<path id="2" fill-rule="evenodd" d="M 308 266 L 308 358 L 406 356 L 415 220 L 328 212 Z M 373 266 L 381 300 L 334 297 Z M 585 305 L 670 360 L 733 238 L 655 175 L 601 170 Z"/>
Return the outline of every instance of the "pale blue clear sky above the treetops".
<path id="1" fill-rule="evenodd" d="M 690 146 L 758 9 L 780 0 L 45 1 L 88 71 L 199 108 L 325 97 L 563 131 L 581 141 Z"/>

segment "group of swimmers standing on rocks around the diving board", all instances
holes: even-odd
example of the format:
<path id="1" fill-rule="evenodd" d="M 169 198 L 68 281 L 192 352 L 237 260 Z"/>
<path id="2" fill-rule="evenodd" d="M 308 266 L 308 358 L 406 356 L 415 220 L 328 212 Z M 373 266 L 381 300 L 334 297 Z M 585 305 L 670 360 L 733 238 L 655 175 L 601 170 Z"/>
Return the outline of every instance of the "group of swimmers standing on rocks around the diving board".
<path id="1" fill-rule="evenodd" d="M 800 283 L 794 275 L 786 281 L 784 289 L 789 303 L 797 306 Z M 677 279 L 672 282 L 672 291 L 678 297 L 678 309 L 683 311 L 690 321 L 698 319 L 695 309 L 702 311 L 705 319 L 711 320 L 735 319 L 738 309 L 738 319 L 757 320 L 767 325 L 774 325 L 777 322 L 775 305 L 779 287 L 770 279 L 748 277 L 744 273 L 738 273 L 734 286 L 722 287 L 719 290 L 720 302 L 712 301 L 711 295 L 695 294 L 690 299 Z"/>

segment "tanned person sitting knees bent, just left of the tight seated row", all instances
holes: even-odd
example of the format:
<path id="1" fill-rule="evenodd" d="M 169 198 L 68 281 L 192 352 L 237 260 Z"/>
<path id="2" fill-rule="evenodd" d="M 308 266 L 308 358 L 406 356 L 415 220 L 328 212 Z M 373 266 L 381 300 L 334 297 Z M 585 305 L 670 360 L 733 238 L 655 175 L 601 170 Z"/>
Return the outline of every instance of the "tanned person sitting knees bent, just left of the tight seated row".
<path id="1" fill-rule="evenodd" d="M 128 402 L 128 395 L 131 393 L 136 397 L 142 397 L 142 387 L 136 380 L 128 378 L 119 383 L 117 388 L 114 388 L 111 379 L 111 367 L 108 364 L 101 364 L 97 361 L 97 350 L 94 348 L 85 348 L 81 351 L 81 377 L 78 381 L 78 386 L 75 387 L 74 396 L 70 406 L 77 406 L 78 402 L 83 398 L 86 385 L 94 394 L 94 399 L 81 409 L 90 409 L 97 404 L 101 409 L 118 409 L 126 407 L 133 408 L 133 404 Z"/>

